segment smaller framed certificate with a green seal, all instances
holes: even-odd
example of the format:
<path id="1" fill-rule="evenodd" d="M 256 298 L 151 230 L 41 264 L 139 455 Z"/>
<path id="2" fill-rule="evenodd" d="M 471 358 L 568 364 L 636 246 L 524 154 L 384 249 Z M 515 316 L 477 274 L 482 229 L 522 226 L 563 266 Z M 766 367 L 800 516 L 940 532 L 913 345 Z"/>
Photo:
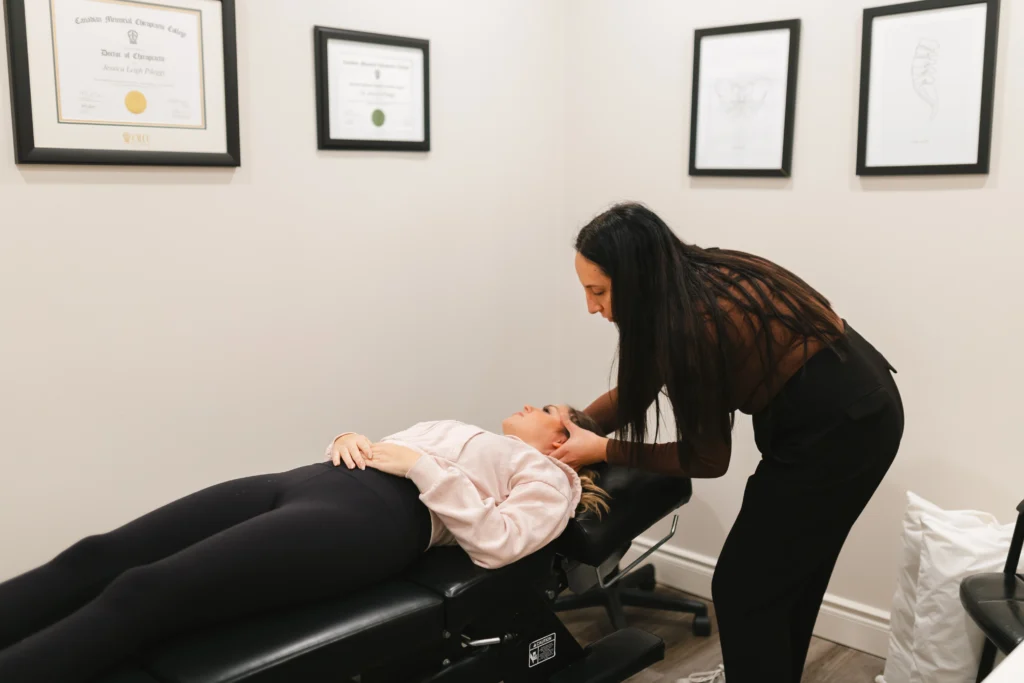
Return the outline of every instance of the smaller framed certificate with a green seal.
<path id="1" fill-rule="evenodd" d="M 430 151 L 430 43 L 316 27 L 321 150 Z"/>

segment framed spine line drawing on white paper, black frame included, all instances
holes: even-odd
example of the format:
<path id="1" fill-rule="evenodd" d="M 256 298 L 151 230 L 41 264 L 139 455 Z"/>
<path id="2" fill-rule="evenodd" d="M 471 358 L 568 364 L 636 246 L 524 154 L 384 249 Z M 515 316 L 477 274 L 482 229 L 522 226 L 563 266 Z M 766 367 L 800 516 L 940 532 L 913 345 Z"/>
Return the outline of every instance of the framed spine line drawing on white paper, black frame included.
<path id="1" fill-rule="evenodd" d="M 999 0 L 864 10 L 858 175 L 988 173 Z"/>

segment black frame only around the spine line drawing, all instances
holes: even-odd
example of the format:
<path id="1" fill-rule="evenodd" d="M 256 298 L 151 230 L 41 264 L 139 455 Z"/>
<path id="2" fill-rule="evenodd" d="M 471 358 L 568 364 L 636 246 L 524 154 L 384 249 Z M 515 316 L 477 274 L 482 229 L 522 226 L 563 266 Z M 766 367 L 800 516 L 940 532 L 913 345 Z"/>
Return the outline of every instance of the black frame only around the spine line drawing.
<path id="1" fill-rule="evenodd" d="M 871 45 L 873 23 L 880 16 L 931 11 L 950 7 L 987 5 L 985 49 L 982 73 L 981 109 L 978 112 L 978 161 L 974 164 L 937 164 L 922 166 L 868 166 L 867 134 L 871 86 Z M 857 175 L 962 175 L 989 172 L 992 146 L 992 113 L 995 102 L 995 58 L 998 51 L 999 0 L 920 0 L 864 9 L 860 53 L 860 109 L 857 125 Z"/>

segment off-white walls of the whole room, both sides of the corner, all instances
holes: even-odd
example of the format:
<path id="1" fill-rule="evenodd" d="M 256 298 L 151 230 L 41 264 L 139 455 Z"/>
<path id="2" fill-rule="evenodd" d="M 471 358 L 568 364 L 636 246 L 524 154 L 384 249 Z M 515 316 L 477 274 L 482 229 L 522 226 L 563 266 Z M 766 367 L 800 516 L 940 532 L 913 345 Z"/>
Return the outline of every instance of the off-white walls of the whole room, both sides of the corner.
<path id="1" fill-rule="evenodd" d="M 199 486 L 318 459 L 342 427 L 585 404 L 614 330 L 587 317 L 569 243 L 630 199 L 796 269 L 899 368 L 904 446 L 830 587 L 884 611 L 904 490 L 1007 519 L 1024 496 L 1024 15 L 1004 3 L 992 173 L 860 180 L 867 4 L 247 0 L 242 169 L 18 168 L 0 144 L 0 579 Z M 693 30 L 792 17 L 794 178 L 689 178 Z M 314 24 L 431 39 L 434 152 L 316 152 Z M 740 420 L 671 557 L 714 562 L 750 436 Z"/>

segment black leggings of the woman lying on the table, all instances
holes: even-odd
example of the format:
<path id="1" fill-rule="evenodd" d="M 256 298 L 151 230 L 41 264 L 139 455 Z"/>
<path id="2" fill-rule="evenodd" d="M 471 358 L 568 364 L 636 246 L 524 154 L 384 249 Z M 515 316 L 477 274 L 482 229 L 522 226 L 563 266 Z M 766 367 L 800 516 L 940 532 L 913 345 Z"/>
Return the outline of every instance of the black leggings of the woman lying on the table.
<path id="1" fill-rule="evenodd" d="M 88 681 L 177 633 L 394 577 L 429 540 L 416 486 L 377 470 L 221 483 L 0 584 L 0 681 Z"/>

